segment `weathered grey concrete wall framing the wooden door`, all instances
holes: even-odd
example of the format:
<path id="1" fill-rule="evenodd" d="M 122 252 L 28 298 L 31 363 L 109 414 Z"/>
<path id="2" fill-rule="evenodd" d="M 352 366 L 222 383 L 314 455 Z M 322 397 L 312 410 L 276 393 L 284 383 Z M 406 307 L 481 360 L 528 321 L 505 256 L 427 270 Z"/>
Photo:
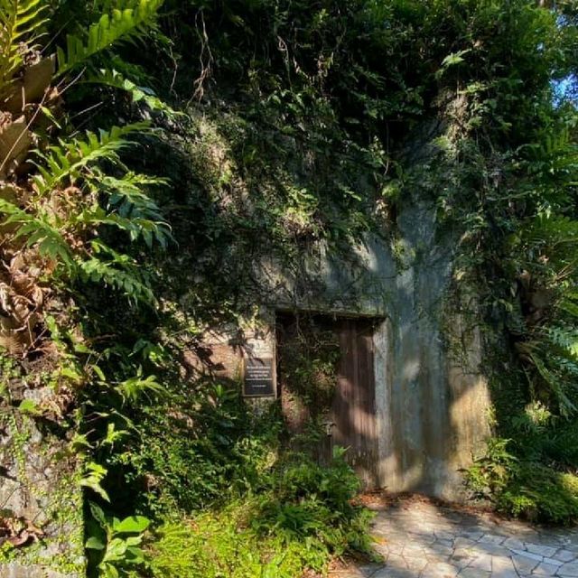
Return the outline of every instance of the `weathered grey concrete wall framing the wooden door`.
<path id="1" fill-rule="evenodd" d="M 259 297 L 258 328 L 242 346 L 220 331 L 207 337 L 223 375 L 242 376 L 243 359 L 275 359 L 275 312 L 318 312 L 374 317 L 374 371 L 379 486 L 464 499 L 460 470 L 489 436 L 489 389 L 480 373 L 480 335 L 466 331 L 447 308 L 451 242 L 435 238 L 435 212 L 407 206 L 397 220 L 395 249 L 368 238 L 351 262 L 333 260 L 322 247 L 289 275 L 271 262 L 259 265 L 268 284 Z M 462 355 L 447 347 L 453 337 Z"/>

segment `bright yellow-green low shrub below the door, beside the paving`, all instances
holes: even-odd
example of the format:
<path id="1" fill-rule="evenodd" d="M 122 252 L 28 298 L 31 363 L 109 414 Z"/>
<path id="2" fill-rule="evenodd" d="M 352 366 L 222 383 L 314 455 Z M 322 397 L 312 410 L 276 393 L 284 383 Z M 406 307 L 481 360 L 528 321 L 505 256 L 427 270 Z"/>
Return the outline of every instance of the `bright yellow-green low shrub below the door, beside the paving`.
<path id="1" fill-rule="evenodd" d="M 167 524 L 151 546 L 154 576 L 294 578 L 323 571 L 332 555 L 370 553 L 368 510 L 350 504 L 359 481 L 338 452 L 323 468 L 292 454 L 257 495 Z"/>

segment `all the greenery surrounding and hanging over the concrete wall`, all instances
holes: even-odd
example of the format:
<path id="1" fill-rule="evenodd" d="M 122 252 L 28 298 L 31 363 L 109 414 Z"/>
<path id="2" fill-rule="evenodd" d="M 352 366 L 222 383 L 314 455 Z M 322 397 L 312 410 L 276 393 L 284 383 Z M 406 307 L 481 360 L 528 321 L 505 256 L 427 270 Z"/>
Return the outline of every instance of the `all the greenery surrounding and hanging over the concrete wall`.
<path id="1" fill-rule="evenodd" d="M 90 572 L 189 575 L 174 541 L 207 532 L 213 557 L 194 564 L 218 575 L 238 528 L 270 555 L 231 575 L 368 549 L 339 457 L 284 457 L 279 416 L 250 416 L 236 384 L 183 378 L 182 350 L 254 315 L 248 263 L 306 282 L 321 242 L 397 247 L 410 196 L 456 240 L 452 292 L 479 302 L 497 437 L 472 488 L 576 520 L 576 14 L 573 0 L 0 0 L 2 412 L 79 457 Z"/>

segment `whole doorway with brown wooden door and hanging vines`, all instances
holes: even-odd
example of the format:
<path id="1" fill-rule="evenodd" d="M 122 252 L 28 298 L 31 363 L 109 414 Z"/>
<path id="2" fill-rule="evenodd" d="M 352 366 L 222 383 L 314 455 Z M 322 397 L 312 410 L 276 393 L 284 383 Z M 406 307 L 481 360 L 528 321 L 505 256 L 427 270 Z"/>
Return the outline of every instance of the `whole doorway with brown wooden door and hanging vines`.
<path id="1" fill-rule="evenodd" d="M 366 489 L 378 486 L 374 332 L 378 320 L 278 313 L 278 395 L 294 439 L 320 461 L 337 446 Z M 308 435 L 307 435 L 308 434 Z M 315 435 L 316 434 L 316 435 Z"/>

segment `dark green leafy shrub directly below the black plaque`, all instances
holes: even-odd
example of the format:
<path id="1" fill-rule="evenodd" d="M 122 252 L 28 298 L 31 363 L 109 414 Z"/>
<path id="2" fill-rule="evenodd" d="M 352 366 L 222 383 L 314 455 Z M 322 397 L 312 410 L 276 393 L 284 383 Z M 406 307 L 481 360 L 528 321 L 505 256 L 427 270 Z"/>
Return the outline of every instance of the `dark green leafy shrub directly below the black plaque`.
<path id="1" fill-rule="evenodd" d="M 139 443 L 114 458 L 128 487 L 147 489 L 133 496 L 137 511 L 178 516 L 224 503 L 256 486 L 275 460 L 275 408 L 252 415 L 238 387 L 197 386 L 141 407 Z"/>

